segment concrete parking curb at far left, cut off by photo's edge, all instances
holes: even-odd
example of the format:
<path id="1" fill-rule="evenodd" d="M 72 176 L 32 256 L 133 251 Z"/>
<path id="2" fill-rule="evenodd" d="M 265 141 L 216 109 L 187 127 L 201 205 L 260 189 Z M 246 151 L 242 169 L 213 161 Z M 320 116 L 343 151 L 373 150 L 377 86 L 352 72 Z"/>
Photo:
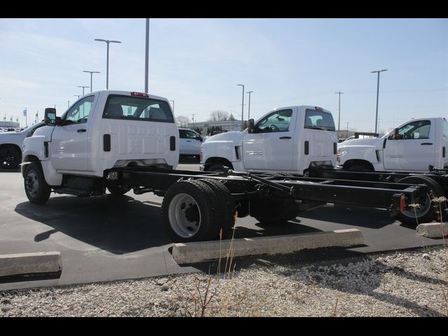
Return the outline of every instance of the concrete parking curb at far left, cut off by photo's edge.
<path id="1" fill-rule="evenodd" d="M 0 255 L 0 277 L 44 274 L 62 271 L 60 252 L 17 253 Z"/>

